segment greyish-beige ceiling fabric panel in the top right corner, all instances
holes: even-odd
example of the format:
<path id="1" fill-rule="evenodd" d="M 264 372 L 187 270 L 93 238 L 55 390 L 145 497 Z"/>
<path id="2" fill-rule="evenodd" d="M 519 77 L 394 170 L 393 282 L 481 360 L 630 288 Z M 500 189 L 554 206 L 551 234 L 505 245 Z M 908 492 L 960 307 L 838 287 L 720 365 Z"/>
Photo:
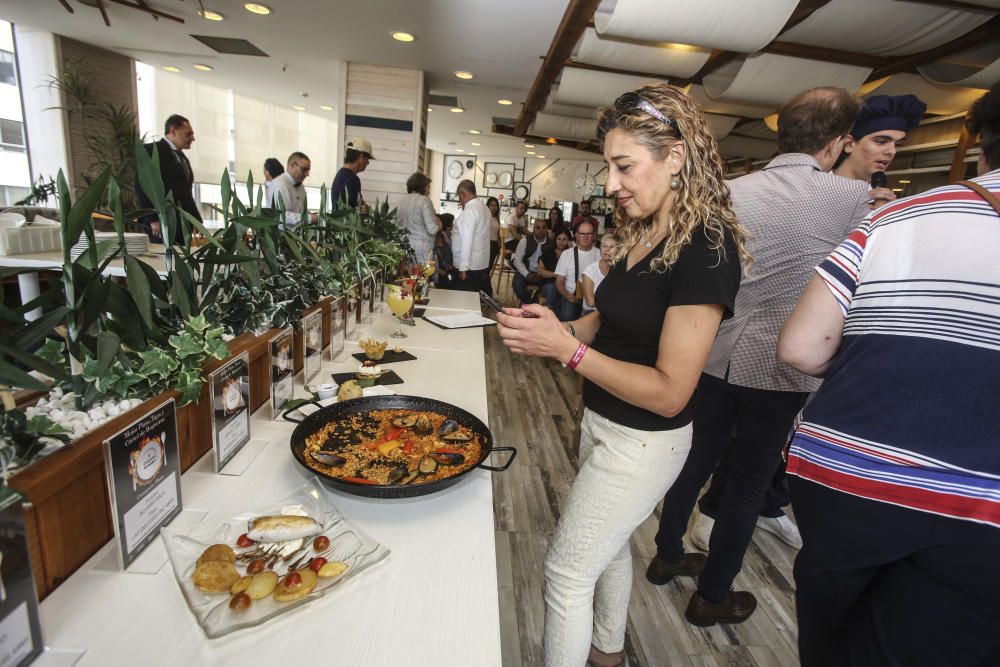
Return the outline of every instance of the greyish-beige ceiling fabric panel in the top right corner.
<path id="1" fill-rule="evenodd" d="M 920 53 L 988 21 L 982 11 L 897 0 L 833 0 L 781 35 L 781 41 L 879 56 Z"/>

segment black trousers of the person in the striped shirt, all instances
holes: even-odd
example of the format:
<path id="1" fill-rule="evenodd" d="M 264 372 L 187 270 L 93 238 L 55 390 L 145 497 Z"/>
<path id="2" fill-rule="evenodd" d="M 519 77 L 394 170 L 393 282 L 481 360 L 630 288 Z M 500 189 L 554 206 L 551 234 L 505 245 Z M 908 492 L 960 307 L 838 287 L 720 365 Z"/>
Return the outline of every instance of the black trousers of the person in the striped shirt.
<path id="1" fill-rule="evenodd" d="M 791 489 L 804 667 L 1000 665 L 1000 528 Z"/>

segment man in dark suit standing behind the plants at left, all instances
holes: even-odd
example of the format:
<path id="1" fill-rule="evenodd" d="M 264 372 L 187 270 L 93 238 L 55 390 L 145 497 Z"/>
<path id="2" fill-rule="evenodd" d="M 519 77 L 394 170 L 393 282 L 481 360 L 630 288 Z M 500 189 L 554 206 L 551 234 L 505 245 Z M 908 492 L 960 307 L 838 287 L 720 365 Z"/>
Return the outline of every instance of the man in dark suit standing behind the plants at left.
<path id="1" fill-rule="evenodd" d="M 193 143 L 194 130 L 191 128 L 191 123 L 184 116 L 173 114 L 167 118 L 167 122 L 163 125 L 163 138 L 156 143 L 146 144 L 145 148 L 150 155 L 153 154 L 154 147 L 159 153 L 160 176 L 163 179 L 164 194 L 173 193 L 174 201 L 200 221 L 201 213 L 198 211 L 198 204 L 191 192 L 194 185 L 194 175 L 191 171 L 191 163 L 188 162 L 183 153 Z M 153 208 L 153 202 L 142 191 L 142 186 L 139 185 L 138 181 L 135 189 L 142 207 Z M 146 233 L 149 234 L 152 241 L 163 243 L 160 221 L 155 214 L 146 216 L 141 222 L 147 225 Z"/>

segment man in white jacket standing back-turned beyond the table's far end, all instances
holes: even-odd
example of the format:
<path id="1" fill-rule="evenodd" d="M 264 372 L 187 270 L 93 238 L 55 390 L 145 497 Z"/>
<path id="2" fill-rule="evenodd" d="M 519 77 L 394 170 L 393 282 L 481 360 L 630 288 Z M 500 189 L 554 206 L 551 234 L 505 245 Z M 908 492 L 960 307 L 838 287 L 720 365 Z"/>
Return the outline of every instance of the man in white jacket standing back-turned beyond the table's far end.
<path id="1" fill-rule="evenodd" d="M 476 196 L 476 184 L 466 179 L 458 184 L 462 212 L 451 232 L 451 251 L 458 271 L 458 288 L 493 294 L 490 286 L 490 211 Z"/>

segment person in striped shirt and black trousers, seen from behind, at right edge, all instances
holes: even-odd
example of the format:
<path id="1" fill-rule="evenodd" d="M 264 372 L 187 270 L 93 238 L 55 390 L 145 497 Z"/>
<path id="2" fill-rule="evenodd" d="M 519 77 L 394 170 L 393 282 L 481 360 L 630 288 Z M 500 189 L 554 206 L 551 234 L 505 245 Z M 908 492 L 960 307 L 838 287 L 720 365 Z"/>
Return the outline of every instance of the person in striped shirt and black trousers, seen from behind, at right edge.
<path id="1" fill-rule="evenodd" d="M 782 330 L 825 377 L 788 456 L 806 667 L 1000 664 L 1000 84 L 970 130 L 978 186 L 870 215 Z"/>

